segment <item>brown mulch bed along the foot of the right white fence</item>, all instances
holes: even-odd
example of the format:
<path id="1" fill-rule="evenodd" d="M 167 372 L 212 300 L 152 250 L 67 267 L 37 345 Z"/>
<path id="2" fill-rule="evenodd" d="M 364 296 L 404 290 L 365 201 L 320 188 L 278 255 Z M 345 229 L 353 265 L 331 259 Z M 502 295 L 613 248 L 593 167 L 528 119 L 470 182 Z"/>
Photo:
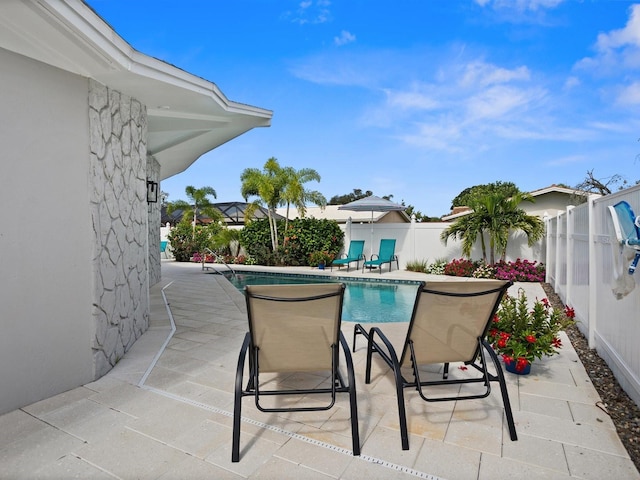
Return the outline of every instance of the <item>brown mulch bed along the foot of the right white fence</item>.
<path id="1" fill-rule="evenodd" d="M 553 291 L 548 283 L 542 283 L 549 303 L 555 307 L 564 309 L 560 297 Z M 565 330 L 571 344 L 580 361 L 584 365 L 589 378 L 600 394 L 609 417 L 613 420 L 618 431 L 618 436 L 629 453 L 629 457 L 640 470 L 640 408 L 620 387 L 613 376 L 611 369 L 600 358 L 598 353 L 589 348 L 587 339 L 582 335 L 578 327 L 570 326 Z"/>

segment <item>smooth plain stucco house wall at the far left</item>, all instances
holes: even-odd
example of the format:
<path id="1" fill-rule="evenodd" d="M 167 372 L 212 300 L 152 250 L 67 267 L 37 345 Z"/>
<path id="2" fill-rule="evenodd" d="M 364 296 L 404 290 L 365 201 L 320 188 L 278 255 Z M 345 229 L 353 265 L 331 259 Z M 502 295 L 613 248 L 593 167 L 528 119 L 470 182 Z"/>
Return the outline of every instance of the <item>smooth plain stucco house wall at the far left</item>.
<path id="1" fill-rule="evenodd" d="M 88 81 L 0 49 L 0 413 L 93 379 Z"/>

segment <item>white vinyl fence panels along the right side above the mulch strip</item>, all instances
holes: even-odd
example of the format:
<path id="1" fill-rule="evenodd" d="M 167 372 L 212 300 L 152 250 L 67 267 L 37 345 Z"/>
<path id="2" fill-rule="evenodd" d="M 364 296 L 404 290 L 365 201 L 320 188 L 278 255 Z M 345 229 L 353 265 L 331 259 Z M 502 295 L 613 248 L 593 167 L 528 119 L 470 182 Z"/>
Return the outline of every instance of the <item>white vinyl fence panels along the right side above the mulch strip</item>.
<path id="1" fill-rule="evenodd" d="M 589 346 L 640 405 L 640 268 L 627 272 L 633 251 L 620 247 L 607 208 L 627 201 L 640 214 L 640 186 L 590 198 L 547 220 L 547 282 L 575 309 Z"/>

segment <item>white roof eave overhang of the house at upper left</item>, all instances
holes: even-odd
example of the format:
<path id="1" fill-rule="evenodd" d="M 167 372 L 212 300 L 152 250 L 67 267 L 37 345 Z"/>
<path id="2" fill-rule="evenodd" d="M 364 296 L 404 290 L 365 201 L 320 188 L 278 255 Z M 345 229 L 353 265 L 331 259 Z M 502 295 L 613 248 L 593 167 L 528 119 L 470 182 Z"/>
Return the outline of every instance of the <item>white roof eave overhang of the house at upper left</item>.
<path id="1" fill-rule="evenodd" d="M 126 14 L 126 13 L 123 13 Z M 273 112 L 228 100 L 213 83 L 144 55 L 80 0 L 0 1 L 0 48 L 98 82 L 147 106 L 147 153 L 161 180 Z"/>

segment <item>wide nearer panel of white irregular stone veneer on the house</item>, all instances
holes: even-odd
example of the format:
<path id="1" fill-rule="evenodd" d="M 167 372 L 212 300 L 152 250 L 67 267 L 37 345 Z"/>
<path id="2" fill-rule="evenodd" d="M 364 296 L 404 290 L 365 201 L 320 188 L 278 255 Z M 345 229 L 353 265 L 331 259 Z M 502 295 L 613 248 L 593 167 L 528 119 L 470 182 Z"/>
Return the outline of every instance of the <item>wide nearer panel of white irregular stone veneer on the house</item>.
<path id="1" fill-rule="evenodd" d="M 90 202 L 94 231 L 95 378 L 149 326 L 147 113 L 89 81 Z"/>

